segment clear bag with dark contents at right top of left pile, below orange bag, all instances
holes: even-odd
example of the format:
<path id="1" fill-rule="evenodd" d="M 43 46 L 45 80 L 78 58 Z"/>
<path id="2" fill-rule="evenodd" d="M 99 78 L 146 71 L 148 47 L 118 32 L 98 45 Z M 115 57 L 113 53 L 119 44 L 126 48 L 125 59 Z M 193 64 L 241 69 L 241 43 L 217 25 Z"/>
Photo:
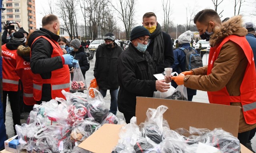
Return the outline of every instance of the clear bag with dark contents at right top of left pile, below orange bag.
<path id="1" fill-rule="evenodd" d="M 101 123 L 108 116 L 109 109 L 106 107 L 106 103 L 100 91 L 94 88 L 90 89 L 93 89 L 98 94 L 96 97 L 90 97 L 90 95 L 87 93 L 87 99 L 89 103 L 87 105 L 87 117 L 92 117 L 96 122 Z"/>

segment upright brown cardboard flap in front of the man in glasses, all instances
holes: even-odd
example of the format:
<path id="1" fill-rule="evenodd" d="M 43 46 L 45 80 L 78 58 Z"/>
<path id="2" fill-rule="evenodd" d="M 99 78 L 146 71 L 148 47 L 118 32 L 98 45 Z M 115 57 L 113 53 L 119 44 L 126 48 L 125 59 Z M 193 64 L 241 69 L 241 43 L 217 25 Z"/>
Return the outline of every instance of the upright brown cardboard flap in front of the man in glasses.
<path id="1" fill-rule="evenodd" d="M 171 129 L 183 127 L 189 130 L 192 126 L 213 130 L 221 127 L 235 137 L 238 135 L 240 107 L 148 97 L 137 97 L 136 101 L 138 125 L 145 121 L 148 108 L 156 109 L 165 105 L 168 109 L 164 113 L 164 119 Z"/>

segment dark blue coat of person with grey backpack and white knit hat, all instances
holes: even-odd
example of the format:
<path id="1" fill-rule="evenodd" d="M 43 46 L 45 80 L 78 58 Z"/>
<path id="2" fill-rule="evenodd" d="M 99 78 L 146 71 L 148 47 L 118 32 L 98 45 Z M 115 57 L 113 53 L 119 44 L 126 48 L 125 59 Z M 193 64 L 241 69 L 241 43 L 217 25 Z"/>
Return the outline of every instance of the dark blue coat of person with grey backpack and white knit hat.
<path id="1" fill-rule="evenodd" d="M 190 47 L 190 44 L 189 43 L 181 44 L 180 47 L 187 49 Z M 186 54 L 179 48 L 174 50 L 173 54 L 174 54 L 174 64 L 172 64 L 171 66 L 172 72 L 177 72 L 178 74 L 180 74 L 181 72 L 186 71 Z M 175 81 L 172 81 L 172 86 L 175 88 L 178 87 Z M 187 88 L 187 93 L 188 95 L 196 95 L 196 90 Z"/>

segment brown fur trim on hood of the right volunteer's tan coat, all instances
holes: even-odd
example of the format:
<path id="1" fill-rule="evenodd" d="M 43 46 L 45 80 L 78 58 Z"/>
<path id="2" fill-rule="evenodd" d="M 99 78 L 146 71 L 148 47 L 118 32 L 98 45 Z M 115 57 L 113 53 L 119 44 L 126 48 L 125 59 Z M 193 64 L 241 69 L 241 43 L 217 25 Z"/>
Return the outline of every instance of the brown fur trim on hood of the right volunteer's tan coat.
<path id="1" fill-rule="evenodd" d="M 222 40 L 226 38 L 226 36 L 246 36 L 247 32 L 247 29 L 243 27 L 242 16 L 234 16 L 226 22 L 223 22 L 220 27 L 214 28 L 214 33 L 210 38 L 210 46 L 216 46 L 217 44 L 222 42 Z"/>

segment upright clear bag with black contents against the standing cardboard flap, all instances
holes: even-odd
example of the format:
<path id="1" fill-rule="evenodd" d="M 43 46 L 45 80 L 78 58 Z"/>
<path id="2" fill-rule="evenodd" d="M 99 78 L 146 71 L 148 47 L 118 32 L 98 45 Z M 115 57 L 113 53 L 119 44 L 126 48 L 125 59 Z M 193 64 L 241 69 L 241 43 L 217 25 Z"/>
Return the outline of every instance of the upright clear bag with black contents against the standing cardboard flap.
<path id="1" fill-rule="evenodd" d="M 168 107 L 161 105 L 157 109 L 149 108 L 146 112 L 147 119 L 140 126 L 142 135 L 149 137 L 156 144 L 162 142 L 163 138 L 163 127 L 170 129 L 166 120 L 163 119 L 163 113 Z"/>

